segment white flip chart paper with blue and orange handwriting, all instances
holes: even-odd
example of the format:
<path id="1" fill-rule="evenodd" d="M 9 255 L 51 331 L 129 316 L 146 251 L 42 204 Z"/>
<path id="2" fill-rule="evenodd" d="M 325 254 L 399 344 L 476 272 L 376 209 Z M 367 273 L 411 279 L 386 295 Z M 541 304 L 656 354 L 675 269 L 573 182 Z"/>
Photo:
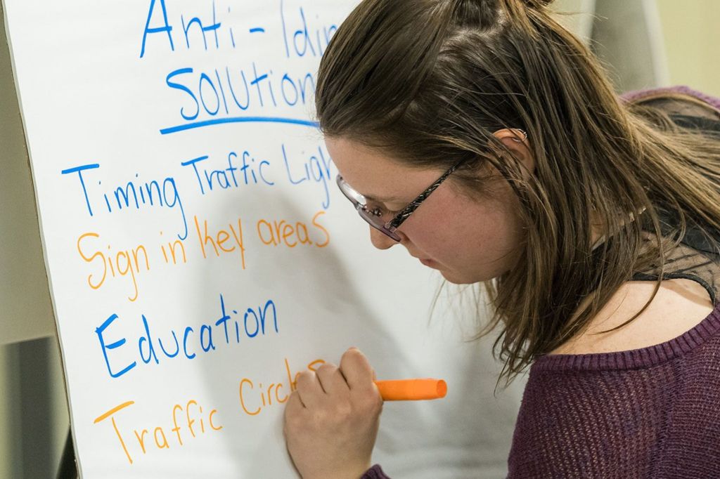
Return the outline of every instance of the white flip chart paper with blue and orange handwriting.
<path id="1" fill-rule="evenodd" d="M 438 275 L 373 250 L 315 127 L 353 6 L 4 0 L 83 477 L 292 478 L 294 376 L 349 346 L 379 377 L 449 383 L 444 404 L 386 407 L 386 468 L 482 456 L 487 419 L 456 404 L 492 401 L 492 374 L 465 372 L 489 353 L 428 327 Z M 436 427 L 473 422 L 459 444 Z"/>

